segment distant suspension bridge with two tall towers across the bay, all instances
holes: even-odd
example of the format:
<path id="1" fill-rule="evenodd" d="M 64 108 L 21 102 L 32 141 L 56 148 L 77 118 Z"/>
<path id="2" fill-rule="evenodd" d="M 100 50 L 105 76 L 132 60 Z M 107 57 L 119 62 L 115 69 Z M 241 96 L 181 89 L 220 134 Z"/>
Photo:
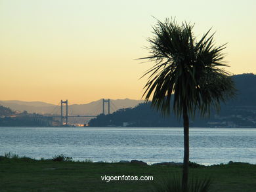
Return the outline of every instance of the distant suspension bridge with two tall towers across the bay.
<path id="1" fill-rule="evenodd" d="M 102 99 L 102 113 L 104 115 L 110 114 L 110 103 L 112 106 L 114 104 L 110 102 L 110 99 Z M 44 115 L 43 117 L 53 117 L 53 118 L 59 118 L 60 119 L 60 126 L 68 126 L 69 119 L 70 118 L 93 118 L 96 117 L 96 115 L 71 115 L 70 113 L 70 103 L 68 100 L 60 100 L 60 115 Z M 56 107 L 59 107 L 59 104 Z M 56 109 L 56 107 L 53 109 L 53 111 Z M 66 107 L 66 109 L 64 109 Z M 116 106 L 115 106 L 116 107 Z M 107 109 L 107 110 L 106 110 Z M 117 108 L 116 108 L 117 109 Z M 115 109 L 112 109 L 112 111 L 115 111 Z M 54 114 L 52 112 L 51 114 Z"/>

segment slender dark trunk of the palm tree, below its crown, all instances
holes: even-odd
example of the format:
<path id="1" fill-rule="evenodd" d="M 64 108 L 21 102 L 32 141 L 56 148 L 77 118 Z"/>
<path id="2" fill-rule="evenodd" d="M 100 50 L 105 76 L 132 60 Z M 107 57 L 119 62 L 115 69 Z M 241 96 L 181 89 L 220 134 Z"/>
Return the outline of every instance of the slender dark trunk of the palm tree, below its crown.
<path id="1" fill-rule="evenodd" d="M 183 127 L 184 127 L 184 159 L 182 172 L 182 191 L 188 192 L 188 161 L 189 161 L 189 119 L 186 104 L 183 105 Z"/>

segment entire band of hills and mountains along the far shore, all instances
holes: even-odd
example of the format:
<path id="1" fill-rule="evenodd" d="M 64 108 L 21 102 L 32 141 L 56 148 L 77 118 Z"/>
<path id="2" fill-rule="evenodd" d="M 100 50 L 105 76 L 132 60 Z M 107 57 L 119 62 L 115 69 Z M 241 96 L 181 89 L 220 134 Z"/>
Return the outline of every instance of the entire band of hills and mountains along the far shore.
<path id="1" fill-rule="evenodd" d="M 221 104 L 221 111 L 219 113 L 212 111 L 210 118 L 201 118 L 196 114 L 195 119 L 190 119 L 190 126 L 256 127 L 256 75 L 246 73 L 234 75 L 232 79 L 238 90 L 236 98 Z M 12 111 L 1 106 L 9 107 Z M 105 111 L 108 110 L 107 108 L 105 104 Z M 14 111 L 25 112 L 14 113 Z M 40 115 L 31 113 L 59 115 L 60 105 L 16 100 L 0 101 L 0 126 L 58 126 L 59 124 L 58 118 L 45 117 L 46 119 L 42 120 L 41 117 L 39 118 Z M 182 126 L 182 121 L 178 121 L 173 113 L 170 117 L 164 118 L 143 100 L 110 100 L 110 113 L 112 113 L 110 115 L 99 115 L 102 113 L 102 100 L 89 104 L 69 105 L 68 113 L 98 115 L 91 120 L 81 117 L 70 118 L 68 120 L 70 125 L 87 123 L 89 126 Z"/>

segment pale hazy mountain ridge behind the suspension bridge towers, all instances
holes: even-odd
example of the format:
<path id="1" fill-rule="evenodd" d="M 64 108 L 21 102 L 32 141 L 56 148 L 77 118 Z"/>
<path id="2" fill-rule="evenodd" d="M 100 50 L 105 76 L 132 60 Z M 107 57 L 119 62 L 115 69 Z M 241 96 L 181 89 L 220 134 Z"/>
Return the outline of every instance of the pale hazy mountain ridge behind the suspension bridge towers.
<path id="1" fill-rule="evenodd" d="M 135 107 L 143 100 L 110 100 L 110 113 L 117 109 Z M 1 106 L 9 107 L 13 111 L 28 111 L 28 113 L 39 114 L 60 114 L 60 105 L 47 104 L 45 102 L 23 102 L 18 100 L 0 101 Z M 64 109 L 66 106 L 64 106 Z M 89 104 L 72 104 L 68 106 L 69 115 L 98 115 L 102 113 L 102 100 L 97 100 Z M 105 113 L 108 107 L 105 104 Z"/>

